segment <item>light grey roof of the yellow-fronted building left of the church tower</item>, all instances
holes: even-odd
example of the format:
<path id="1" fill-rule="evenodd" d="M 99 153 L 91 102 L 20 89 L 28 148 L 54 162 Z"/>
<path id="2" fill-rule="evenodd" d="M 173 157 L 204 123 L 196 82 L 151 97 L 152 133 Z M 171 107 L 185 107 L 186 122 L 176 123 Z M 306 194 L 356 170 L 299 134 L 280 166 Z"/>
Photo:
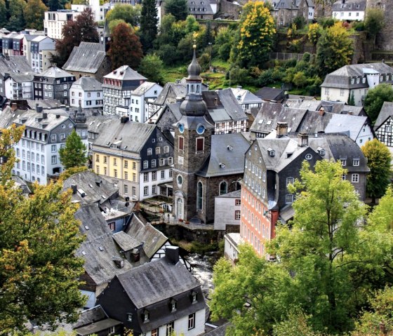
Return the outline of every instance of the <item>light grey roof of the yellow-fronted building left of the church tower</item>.
<path id="1" fill-rule="evenodd" d="M 115 142 L 121 141 L 118 148 L 126 152 L 139 153 L 155 128 L 156 125 L 151 123 L 121 123 L 120 119 L 114 119 L 105 124 L 105 130 L 100 132 L 95 145 L 109 148 Z"/>

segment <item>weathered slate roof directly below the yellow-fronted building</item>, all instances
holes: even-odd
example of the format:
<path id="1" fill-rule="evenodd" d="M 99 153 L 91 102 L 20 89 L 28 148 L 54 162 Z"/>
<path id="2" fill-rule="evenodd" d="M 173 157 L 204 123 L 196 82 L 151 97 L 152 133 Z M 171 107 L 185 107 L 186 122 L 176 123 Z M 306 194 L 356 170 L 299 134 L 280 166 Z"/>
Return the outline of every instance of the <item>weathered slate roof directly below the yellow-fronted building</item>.
<path id="1" fill-rule="evenodd" d="M 71 188 L 72 184 L 76 184 L 77 189 L 83 190 L 86 193 L 84 197 L 81 196 L 79 191 L 72 195 L 72 200 L 79 201 L 81 204 L 100 204 L 119 192 L 119 188 L 114 187 L 112 183 L 109 183 L 100 177 L 100 175 L 96 175 L 90 170 L 85 170 L 84 172 L 68 177 L 63 182 L 63 190 Z"/>

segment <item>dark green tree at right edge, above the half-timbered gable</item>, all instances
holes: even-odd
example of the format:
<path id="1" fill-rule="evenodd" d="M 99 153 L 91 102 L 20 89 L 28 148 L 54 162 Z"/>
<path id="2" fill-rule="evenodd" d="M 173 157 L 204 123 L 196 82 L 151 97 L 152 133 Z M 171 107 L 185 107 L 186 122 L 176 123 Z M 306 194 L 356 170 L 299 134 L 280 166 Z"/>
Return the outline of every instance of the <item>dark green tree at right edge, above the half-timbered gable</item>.
<path id="1" fill-rule="evenodd" d="M 393 88 L 389 84 L 379 84 L 368 90 L 364 100 L 364 109 L 371 121 L 375 123 L 384 102 L 393 102 Z"/>

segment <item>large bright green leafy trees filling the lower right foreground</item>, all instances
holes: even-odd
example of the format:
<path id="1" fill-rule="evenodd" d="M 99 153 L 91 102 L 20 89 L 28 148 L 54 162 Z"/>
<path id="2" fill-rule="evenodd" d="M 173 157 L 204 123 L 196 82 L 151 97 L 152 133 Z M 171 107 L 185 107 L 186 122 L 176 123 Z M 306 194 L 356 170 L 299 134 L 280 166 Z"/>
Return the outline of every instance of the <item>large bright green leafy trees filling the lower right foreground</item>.
<path id="1" fill-rule="evenodd" d="M 342 180 L 345 171 L 326 160 L 314 171 L 303 163 L 301 180 L 288 186 L 298 191 L 293 221 L 277 225 L 269 244 L 277 262 L 247 246 L 235 267 L 216 264 L 211 311 L 232 322 L 230 335 L 270 335 L 297 309 L 312 332 L 347 332 L 368 294 L 392 283 L 393 235 L 364 224 L 366 206 Z"/>

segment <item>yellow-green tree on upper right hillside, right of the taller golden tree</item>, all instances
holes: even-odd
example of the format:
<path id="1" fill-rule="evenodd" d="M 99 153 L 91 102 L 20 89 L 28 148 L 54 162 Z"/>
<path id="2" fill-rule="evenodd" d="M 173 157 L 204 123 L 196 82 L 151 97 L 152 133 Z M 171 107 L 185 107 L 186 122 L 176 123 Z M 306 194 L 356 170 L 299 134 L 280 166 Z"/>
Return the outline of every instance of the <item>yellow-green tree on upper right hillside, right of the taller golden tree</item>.
<path id="1" fill-rule="evenodd" d="M 349 64 L 353 54 L 349 32 L 341 22 L 324 29 L 317 43 L 317 67 L 321 76 Z"/>

